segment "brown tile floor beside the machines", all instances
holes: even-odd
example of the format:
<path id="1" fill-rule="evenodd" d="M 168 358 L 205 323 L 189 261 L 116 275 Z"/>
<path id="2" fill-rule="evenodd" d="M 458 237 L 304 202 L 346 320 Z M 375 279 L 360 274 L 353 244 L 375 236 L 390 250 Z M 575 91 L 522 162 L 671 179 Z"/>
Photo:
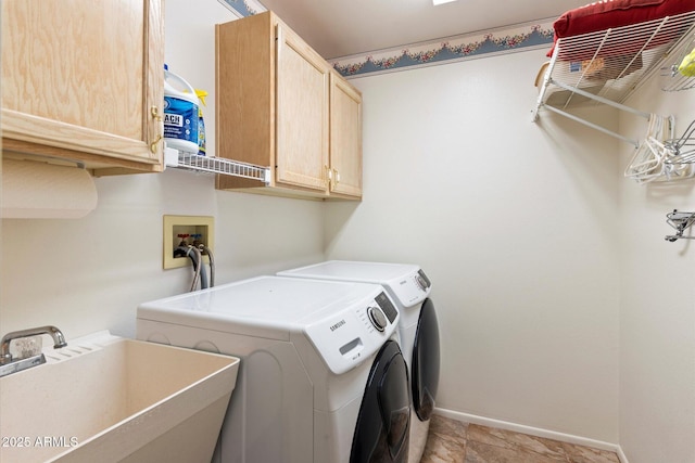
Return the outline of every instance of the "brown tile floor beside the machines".
<path id="1" fill-rule="evenodd" d="M 420 463 L 620 463 L 615 452 L 433 415 Z"/>

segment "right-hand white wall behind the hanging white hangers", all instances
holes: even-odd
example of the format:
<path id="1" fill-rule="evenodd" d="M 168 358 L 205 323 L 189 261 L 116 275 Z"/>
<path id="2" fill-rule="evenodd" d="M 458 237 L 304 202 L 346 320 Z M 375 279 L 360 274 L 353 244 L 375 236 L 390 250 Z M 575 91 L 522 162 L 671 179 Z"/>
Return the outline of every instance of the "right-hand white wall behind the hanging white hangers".
<path id="1" fill-rule="evenodd" d="M 674 114 L 680 137 L 695 119 L 695 91 L 650 83 L 629 103 Z M 646 132 L 635 118 L 621 126 Z M 631 156 L 621 146 L 623 165 Z M 664 241 L 673 209 L 695 211 L 695 181 L 620 182 L 620 443 L 630 463 L 695 462 L 695 243 Z"/>

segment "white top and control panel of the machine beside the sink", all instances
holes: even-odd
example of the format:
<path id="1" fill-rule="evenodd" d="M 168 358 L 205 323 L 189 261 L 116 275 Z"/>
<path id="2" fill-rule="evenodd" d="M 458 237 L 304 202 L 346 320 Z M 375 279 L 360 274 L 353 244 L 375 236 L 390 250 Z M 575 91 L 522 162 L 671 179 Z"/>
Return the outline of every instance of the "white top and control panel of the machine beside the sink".
<path id="1" fill-rule="evenodd" d="M 381 330 L 372 321 L 375 311 L 383 316 L 377 317 Z M 394 303 L 379 285 L 281 276 L 258 276 L 143 303 L 137 317 L 288 342 L 292 335 L 306 336 L 336 374 L 377 352 L 400 320 Z"/>

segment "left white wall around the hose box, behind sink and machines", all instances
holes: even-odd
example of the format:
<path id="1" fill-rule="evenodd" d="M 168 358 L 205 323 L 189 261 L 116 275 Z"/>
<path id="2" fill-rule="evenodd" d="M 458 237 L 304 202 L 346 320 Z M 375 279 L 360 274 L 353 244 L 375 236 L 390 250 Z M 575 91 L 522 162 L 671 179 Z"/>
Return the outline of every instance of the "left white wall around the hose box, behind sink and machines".
<path id="1" fill-rule="evenodd" d="M 166 1 L 166 62 L 207 90 L 214 140 L 214 24 L 232 21 L 208 0 Z M 214 153 L 214 143 L 208 143 Z M 188 291 L 190 268 L 162 269 L 162 216 L 215 217 L 217 282 L 320 260 L 323 205 L 218 192 L 214 178 L 175 169 L 96 179 L 97 210 L 80 220 L 2 220 L 2 334 L 55 324 L 67 339 L 109 329 L 134 336 L 139 303 Z"/>

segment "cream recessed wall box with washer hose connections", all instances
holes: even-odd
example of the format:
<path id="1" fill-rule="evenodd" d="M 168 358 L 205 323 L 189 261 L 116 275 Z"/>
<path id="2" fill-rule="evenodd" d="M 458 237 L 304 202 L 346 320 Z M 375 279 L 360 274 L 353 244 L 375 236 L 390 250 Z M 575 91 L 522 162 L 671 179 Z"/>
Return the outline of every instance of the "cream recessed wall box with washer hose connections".
<path id="1" fill-rule="evenodd" d="M 198 246 L 203 244 L 214 249 L 215 218 L 210 216 L 164 216 L 164 248 L 163 266 L 175 269 L 191 265 L 188 257 L 174 257 L 177 247 Z M 210 258 L 203 255 L 203 261 L 210 263 Z"/>

